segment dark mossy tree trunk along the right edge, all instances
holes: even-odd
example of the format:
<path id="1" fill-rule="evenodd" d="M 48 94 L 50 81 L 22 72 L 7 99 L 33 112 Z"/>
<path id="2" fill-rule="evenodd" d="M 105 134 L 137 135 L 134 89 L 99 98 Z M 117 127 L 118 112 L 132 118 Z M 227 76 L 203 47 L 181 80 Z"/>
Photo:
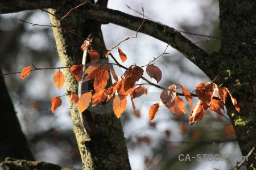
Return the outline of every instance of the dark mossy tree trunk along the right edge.
<path id="1" fill-rule="evenodd" d="M 231 102 L 226 104 L 242 155 L 256 146 L 256 1 L 220 0 L 221 48 L 218 60 L 218 83 L 230 89 L 241 107 L 238 113 Z M 233 40 L 233 41 L 227 41 Z M 254 42 L 253 42 L 254 41 Z M 247 169 L 256 168 L 256 152 L 251 154 Z"/>

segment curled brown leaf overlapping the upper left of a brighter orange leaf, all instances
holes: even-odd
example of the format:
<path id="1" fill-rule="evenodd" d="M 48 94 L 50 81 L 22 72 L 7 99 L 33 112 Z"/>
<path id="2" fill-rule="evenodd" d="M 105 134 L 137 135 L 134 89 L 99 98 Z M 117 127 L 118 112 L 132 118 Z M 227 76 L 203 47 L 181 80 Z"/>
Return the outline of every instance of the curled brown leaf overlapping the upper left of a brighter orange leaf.
<path id="1" fill-rule="evenodd" d="M 160 95 L 160 99 L 168 109 L 170 109 L 174 105 L 174 103 L 172 103 L 172 100 L 174 100 L 176 96 L 176 91 L 177 86 L 175 84 L 172 84 L 171 86 L 164 88 L 163 92 Z"/>

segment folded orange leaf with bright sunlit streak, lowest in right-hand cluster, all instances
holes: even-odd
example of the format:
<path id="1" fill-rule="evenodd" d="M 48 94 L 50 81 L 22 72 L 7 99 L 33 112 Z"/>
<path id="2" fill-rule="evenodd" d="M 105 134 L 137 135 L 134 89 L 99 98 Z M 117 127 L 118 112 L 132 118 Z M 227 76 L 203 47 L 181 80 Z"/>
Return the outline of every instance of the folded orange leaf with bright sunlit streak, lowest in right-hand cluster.
<path id="1" fill-rule="evenodd" d="M 199 100 L 189 115 L 189 124 L 192 125 L 194 122 L 200 121 L 203 118 L 203 108 L 203 101 Z"/>

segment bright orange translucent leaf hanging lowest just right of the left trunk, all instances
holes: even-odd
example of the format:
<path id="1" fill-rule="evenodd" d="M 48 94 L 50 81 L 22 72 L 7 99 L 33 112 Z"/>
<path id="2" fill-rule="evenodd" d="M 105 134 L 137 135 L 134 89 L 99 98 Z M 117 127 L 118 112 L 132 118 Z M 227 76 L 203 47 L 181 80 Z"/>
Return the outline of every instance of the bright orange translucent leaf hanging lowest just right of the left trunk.
<path id="1" fill-rule="evenodd" d="M 125 111 L 127 104 L 126 96 L 123 95 L 116 95 L 113 100 L 113 111 L 115 116 L 119 118 L 121 114 Z"/>

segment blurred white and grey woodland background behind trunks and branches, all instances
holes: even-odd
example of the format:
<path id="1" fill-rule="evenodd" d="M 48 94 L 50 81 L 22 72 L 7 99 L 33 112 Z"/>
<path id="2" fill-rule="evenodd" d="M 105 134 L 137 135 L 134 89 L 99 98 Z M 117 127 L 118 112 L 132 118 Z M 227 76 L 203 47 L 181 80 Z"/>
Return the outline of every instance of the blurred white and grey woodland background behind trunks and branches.
<path id="1" fill-rule="evenodd" d="M 182 31 L 220 36 L 218 1 L 215 0 L 110 0 L 108 7 L 140 17 L 142 15 L 138 12 L 142 12 L 143 7 L 145 18 L 148 17 L 155 22 Z M 48 25 L 50 22 L 48 14 L 39 10 L 0 15 L 0 66 L 3 74 L 21 71 L 23 67 L 31 66 L 31 63 L 39 68 L 61 66 L 52 29 L 32 26 L 18 19 L 36 24 Z M 102 31 L 108 49 L 126 37 L 135 36 L 134 31 L 114 24 L 102 25 Z M 183 35 L 191 41 L 207 39 Z M 220 41 L 211 40 L 197 45 L 208 52 L 214 52 L 218 50 L 219 44 Z M 139 33 L 137 39 L 127 40 L 119 48 L 127 55 L 128 59 L 124 65 L 129 67 L 134 63 L 137 66 L 146 65 L 154 57 L 162 54 L 166 46 L 167 44 L 162 41 Z M 154 62 L 163 73 L 160 86 L 168 87 L 180 82 L 188 91 L 192 91 L 197 84 L 210 80 L 175 49 L 169 46 L 166 52 L 169 54 L 164 54 Z M 113 50 L 113 54 L 119 59 L 117 50 Z M 115 69 L 118 70 L 118 76 L 124 73 L 122 69 L 117 67 Z M 54 114 L 51 113 L 51 97 L 65 93 L 65 88 L 58 90 L 53 83 L 52 77 L 56 71 L 33 71 L 22 82 L 19 80 L 19 74 L 7 75 L 5 81 L 35 159 L 81 169 L 67 98 L 62 97 L 61 107 Z M 146 74 L 145 76 L 150 79 Z M 156 83 L 155 80 L 150 80 Z M 226 159 L 179 161 L 179 154 L 191 156 L 220 154 L 226 155 L 226 158 L 241 156 L 237 142 L 216 145 L 179 143 L 179 141 L 206 142 L 236 138 L 234 130 L 228 120 L 210 111 L 204 112 L 203 120 L 189 125 L 189 113 L 198 101 L 195 97 L 191 106 L 185 102 L 187 114 L 173 114 L 162 107 L 154 122 L 150 122 L 148 111 L 152 104 L 160 101 L 162 90 L 150 86 L 144 87 L 148 89 L 148 95 L 134 99 L 137 112 L 134 113 L 131 104 L 128 103 L 121 117 L 132 169 L 230 169 L 235 166 L 236 161 Z M 181 90 L 179 89 L 178 92 Z"/>

